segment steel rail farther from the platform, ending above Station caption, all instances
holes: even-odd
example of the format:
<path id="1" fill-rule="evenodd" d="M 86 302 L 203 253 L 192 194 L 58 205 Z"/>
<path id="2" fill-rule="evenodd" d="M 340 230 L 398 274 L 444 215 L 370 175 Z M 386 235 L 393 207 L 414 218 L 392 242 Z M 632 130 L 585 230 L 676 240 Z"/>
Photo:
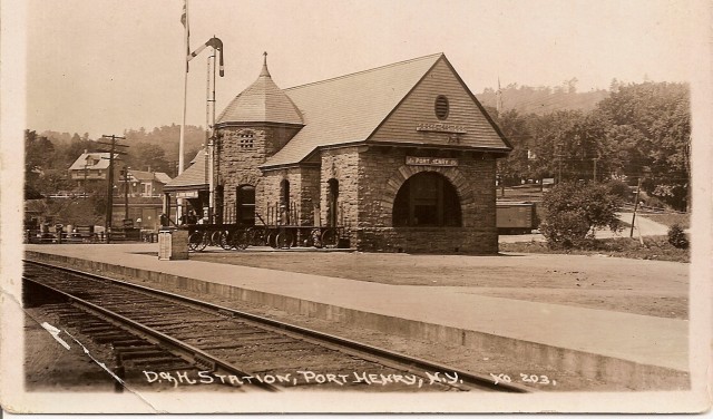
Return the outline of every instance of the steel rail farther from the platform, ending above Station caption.
<path id="1" fill-rule="evenodd" d="M 45 289 L 48 289 L 48 290 L 50 290 L 50 291 L 52 291 L 55 293 L 58 293 L 58 294 L 65 296 L 69 301 L 74 302 L 74 303 L 76 303 L 76 304 L 78 304 L 78 305 L 80 305 L 82 308 L 89 309 L 90 311 L 92 311 L 95 313 L 99 313 L 99 314 L 101 314 L 104 316 L 113 319 L 114 321 L 118 322 L 120 325 L 128 327 L 129 329 L 134 329 L 134 330 L 137 330 L 137 331 L 139 331 L 141 333 L 148 334 L 149 337 L 156 339 L 159 343 L 169 347 L 174 351 L 177 351 L 177 352 L 180 352 L 180 353 L 189 355 L 189 358 L 185 358 L 185 357 L 182 357 L 182 358 L 186 359 L 189 362 L 195 362 L 197 366 L 209 368 L 211 372 L 215 372 L 216 370 L 219 369 L 219 370 L 223 370 L 223 371 L 228 372 L 229 374 L 234 374 L 234 376 L 240 376 L 240 377 L 250 376 L 250 377 L 252 377 L 251 373 L 237 369 L 237 367 L 231 364 L 229 362 L 227 362 L 227 361 L 225 361 L 225 360 L 223 360 L 221 358 L 212 355 L 212 354 L 205 352 L 202 349 L 198 349 L 198 348 L 195 348 L 195 347 L 193 347 L 193 345 L 191 345 L 188 343 L 182 342 L 178 339 L 172 338 L 172 337 L 169 337 L 169 335 L 167 335 L 165 333 L 162 333 L 162 332 L 159 332 L 159 331 L 157 331 L 157 330 L 155 330 L 153 328 L 149 328 L 149 327 L 147 327 L 145 324 L 136 322 L 136 321 L 134 321 L 131 319 L 128 319 L 128 318 L 126 318 L 126 316 L 124 316 L 121 314 L 118 314 L 118 313 L 116 313 L 116 312 L 114 312 L 111 310 L 105 309 L 105 308 L 99 306 L 99 305 L 97 305 L 95 303 L 91 303 L 89 301 L 80 299 L 80 298 L 78 298 L 76 295 L 72 295 L 72 294 L 67 293 L 67 292 L 61 291 L 61 290 L 58 290 L 58 289 L 56 289 L 56 288 L 53 288 L 51 285 L 43 284 L 41 282 L 35 281 L 35 280 L 32 280 L 30 277 L 27 277 L 25 275 L 22 276 L 22 281 L 28 281 L 28 282 L 31 282 L 31 283 L 33 283 L 36 285 L 42 286 Z M 258 387 L 258 388 L 262 388 L 263 390 L 280 391 L 279 388 L 276 388 L 274 386 L 271 386 L 271 384 L 268 384 L 266 382 L 257 381 L 257 382 L 254 382 L 253 384 Z"/>

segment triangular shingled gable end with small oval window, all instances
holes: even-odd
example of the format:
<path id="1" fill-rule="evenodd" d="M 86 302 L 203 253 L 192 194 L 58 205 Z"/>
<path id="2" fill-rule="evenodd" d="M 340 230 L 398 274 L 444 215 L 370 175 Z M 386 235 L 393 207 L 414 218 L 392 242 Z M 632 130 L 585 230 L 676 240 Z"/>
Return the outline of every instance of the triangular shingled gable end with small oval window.
<path id="1" fill-rule="evenodd" d="M 436 115 L 446 98 L 447 116 Z M 446 57 L 428 71 L 369 138 L 370 143 L 408 143 L 507 152 L 511 147 Z"/>

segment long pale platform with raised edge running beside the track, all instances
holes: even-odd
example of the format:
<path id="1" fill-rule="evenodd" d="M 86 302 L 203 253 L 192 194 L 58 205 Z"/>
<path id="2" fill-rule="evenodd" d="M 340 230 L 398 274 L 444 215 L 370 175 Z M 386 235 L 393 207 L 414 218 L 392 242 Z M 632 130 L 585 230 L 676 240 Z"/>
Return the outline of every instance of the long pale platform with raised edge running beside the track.
<path id="1" fill-rule="evenodd" d="M 69 262 L 80 270 L 461 344 L 473 352 L 497 344 L 512 357 L 632 388 L 662 377 L 678 383 L 688 379 L 686 320 L 478 295 L 468 286 L 394 285 L 192 260 L 159 261 L 156 243 L 30 244 L 25 250 L 30 260 Z M 508 263 L 507 257 L 500 260 L 484 262 Z"/>

